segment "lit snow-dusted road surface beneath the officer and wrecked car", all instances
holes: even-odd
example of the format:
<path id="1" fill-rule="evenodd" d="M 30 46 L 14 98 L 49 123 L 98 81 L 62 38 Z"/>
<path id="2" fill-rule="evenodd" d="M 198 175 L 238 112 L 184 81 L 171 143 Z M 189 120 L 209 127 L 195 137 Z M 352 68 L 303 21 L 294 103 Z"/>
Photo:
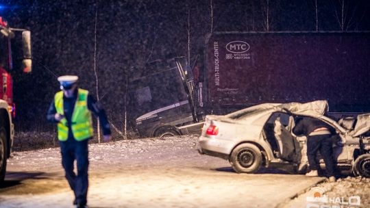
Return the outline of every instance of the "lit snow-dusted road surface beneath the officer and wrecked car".
<path id="1" fill-rule="evenodd" d="M 275 207 L 323 180 L 270 170 L 236 174 L 227 161 L 199 155 L 197 145 L 194 135 L 90 144 L 88 205 Z M 73 207 L 72 201 L 59 148 L 9 159 L 0 207 Z"/>

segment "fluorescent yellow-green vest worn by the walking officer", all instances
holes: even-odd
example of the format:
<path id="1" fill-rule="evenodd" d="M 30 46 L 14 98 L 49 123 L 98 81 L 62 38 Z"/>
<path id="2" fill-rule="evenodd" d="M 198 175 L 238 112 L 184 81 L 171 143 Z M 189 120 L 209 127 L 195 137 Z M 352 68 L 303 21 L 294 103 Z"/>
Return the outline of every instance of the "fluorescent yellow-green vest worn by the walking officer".
<path id="1" fill-rule="evenodd" d="M 72 114 L 72 133 L 73 137 L 77 141 L 86 140 L 93 137 L 93 122 L 91 118 L 91 112 L 87 105 L 88 91 L 78 89 L 77 99 L 75 103 L 75 109 Z M 57 92 L 54 97 L 54 103 L 56 106 L 56 112 L 64 115 L 63 108 L 63 91 Z M 58 140 L 66 141 L 68 138 L 68 125 L 66 118 L 63 118 L 58 122 Z"/>

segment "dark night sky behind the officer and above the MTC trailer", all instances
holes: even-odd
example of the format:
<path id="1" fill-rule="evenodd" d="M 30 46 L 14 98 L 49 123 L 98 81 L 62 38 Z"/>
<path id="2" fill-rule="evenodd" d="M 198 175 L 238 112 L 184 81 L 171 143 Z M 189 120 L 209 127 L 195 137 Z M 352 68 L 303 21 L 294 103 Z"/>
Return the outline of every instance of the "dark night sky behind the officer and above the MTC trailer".
<path id="1" fill-rule="evenodd" d="M 0 15 L 10 27 L 32 31 L 33 72 L 21 73 L 18 54 L 13 54 L 16 131 L 52 129 L 45 115 L 59 90 L 56 77 L 60 75 L 78 75 L 79 86 L 96 97 L 95 61 L 101 103 L 108 119 L 123 127 L 125 86 L 131 66 L 140 68 L 169 55 L 188 54 L 193 63 L 211 28 L 267 31 L 267 2 L 269 31 L 316 30 L 314 0 L 0 1 Z M 370 30 L 370 1 L 317 3 L 319 31 Z"/>

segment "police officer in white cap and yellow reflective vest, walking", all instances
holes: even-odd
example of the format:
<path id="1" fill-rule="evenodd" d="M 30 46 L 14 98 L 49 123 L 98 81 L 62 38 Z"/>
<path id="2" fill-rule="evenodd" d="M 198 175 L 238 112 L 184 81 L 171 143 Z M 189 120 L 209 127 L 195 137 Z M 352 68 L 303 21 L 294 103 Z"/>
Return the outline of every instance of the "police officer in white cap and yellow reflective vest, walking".
<path id="1" fill-rule="evenodd" d="M 88 192 L 88 140 L 93 138 L 91 112 L 99 116 L 103 141 L 110 141 L 110 125 L 99 103 L 87 90 L 77 87 L 77 76 L 58 77 L 60 89 L 47 112 L 47 120 L 58 125 L 58 140 L 65 177 L 75 194 L 73 205 L 86 207 Z M 77 174 L 74 161 L 77 161 Z"/>

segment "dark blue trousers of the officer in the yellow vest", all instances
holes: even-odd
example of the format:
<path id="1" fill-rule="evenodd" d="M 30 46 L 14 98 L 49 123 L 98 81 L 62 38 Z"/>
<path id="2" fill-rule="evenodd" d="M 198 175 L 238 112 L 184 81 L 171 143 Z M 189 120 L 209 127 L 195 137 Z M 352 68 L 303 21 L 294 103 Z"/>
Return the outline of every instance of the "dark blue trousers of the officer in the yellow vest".
<path id="1" fill-rule="evenodd" d="M 66 172 L 66 179 L 75 193 L 75 203 L 86 205 L 88 192 L 88 140 L 77 142 L 69 138 L 60 142 L 62 166 Z M 77 161 L 77 175 L 73 171 L 74 161 Z"/>

